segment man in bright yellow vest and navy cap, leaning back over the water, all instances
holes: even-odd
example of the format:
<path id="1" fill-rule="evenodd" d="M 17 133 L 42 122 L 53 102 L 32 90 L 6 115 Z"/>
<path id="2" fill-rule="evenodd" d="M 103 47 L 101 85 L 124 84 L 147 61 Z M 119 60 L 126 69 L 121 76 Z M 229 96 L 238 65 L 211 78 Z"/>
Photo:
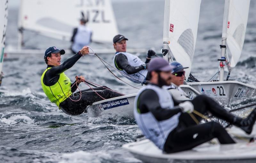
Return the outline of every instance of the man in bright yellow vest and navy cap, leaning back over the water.
<path id="1" fill-rule="evenodd" d="M 74 56 L 68 58 L 60 64 L 61 55 L 65 54 L 64 50 L 56 47 L 48 48 L 44 53 L 44 60 L 47 68 L 41 76 L 41 84 L 46 96 L 52 103 L 55 103 L 59 109 L 68 115 L 79 115 L 84 113 L 88 105 L 103 100 L 101 97 L 108 99 L 112 97 L 122 96 L 122 94 L 108 89 L 106 86 L 92 89 L 81 90 L 82 97 L 76 92 L 75 82 L 71 83 L 64 71 L 71 68 L 81 56 L 89 53 L 88 47 L 84 46 Z M 84 76 L 76 79 L 77 84 L 84 81 Z M 73 86 L 74 85 L 74 86 Z M 71 86 L 73 86 L 71 88 Z M 74 93 L 74 94 L 73 94 Z M 100 96 L 101 97 L 100 97 Z M 79 98 L 81 99 L 79 100 Z"/>

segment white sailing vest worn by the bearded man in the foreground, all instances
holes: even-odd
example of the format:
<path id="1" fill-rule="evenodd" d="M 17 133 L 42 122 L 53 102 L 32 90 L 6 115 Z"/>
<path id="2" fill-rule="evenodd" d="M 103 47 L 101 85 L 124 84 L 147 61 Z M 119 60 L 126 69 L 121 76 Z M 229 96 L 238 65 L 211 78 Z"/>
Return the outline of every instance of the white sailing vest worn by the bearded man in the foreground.
<path id="1" fill-rule="evenodd" d="M 164 148 L 165 141 L 170 134 L 170 132 L 178 126 L 180 113 L 173 115 L 167 120 L 158 121 L 151 112 L 148 113 L 138 113 L 137 103 L 140 94 L 145 89 L 152 89 L 156 92 L 159 104 L 162 108 L 172 109 L 174 107 L 172 97 L 170 93 L 164 89 L 155 85 L 148 84 L 143 87 L 134 100 L 134 118 L 142 130 L 143 134 L 150 139 L 159 149 Z"/>

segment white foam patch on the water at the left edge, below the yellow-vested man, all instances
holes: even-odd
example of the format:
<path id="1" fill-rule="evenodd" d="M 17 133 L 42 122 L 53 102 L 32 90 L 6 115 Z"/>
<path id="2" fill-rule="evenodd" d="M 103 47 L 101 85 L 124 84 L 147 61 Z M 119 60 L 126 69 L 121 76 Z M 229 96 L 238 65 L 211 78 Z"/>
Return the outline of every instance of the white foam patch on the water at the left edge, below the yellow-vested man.
<path id="1" fill-rule="evenodd" d="M 22 121 L 23 123 L 27 124 L 34 124 L 34 120 L 29 118 L 26 115 L 14 115 L 11 116 L 10 118 L 2 118 L 0 119 L 1 122 L 6 123 L 6 124 L 15 124 L 19 121 Z"/>

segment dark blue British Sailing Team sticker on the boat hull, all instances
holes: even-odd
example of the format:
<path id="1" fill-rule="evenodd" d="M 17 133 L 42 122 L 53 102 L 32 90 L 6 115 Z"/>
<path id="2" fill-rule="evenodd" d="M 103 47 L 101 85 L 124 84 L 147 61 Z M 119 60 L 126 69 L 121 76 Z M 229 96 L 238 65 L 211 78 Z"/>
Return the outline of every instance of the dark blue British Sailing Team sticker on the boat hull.
<path id="1" fill-rule="evenodd" d="M 129 101 L 127 98 L 121 98 L 121 99 L 103 102 L 100 104 L 100 110 L 102 109 L 107 110 L 107 109 L 111 109 L 111 108 L 123 106 L 123 105 L 129 105 Z"/>

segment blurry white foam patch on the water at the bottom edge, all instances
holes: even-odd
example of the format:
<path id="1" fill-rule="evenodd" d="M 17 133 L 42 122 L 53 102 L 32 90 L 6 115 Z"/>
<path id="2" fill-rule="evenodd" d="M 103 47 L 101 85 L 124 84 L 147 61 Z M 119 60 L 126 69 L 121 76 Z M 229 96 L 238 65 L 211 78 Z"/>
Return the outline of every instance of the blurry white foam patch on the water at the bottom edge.
<path id="1" fill-rule="evenodd" d="M 73 153 L 62 154 L 59 163 L 101 163 L 103 160 L 111 160 L 111 156 L 108 153 L 96 152 L 90 153 L 86 151 L 76 151 Z"/>

